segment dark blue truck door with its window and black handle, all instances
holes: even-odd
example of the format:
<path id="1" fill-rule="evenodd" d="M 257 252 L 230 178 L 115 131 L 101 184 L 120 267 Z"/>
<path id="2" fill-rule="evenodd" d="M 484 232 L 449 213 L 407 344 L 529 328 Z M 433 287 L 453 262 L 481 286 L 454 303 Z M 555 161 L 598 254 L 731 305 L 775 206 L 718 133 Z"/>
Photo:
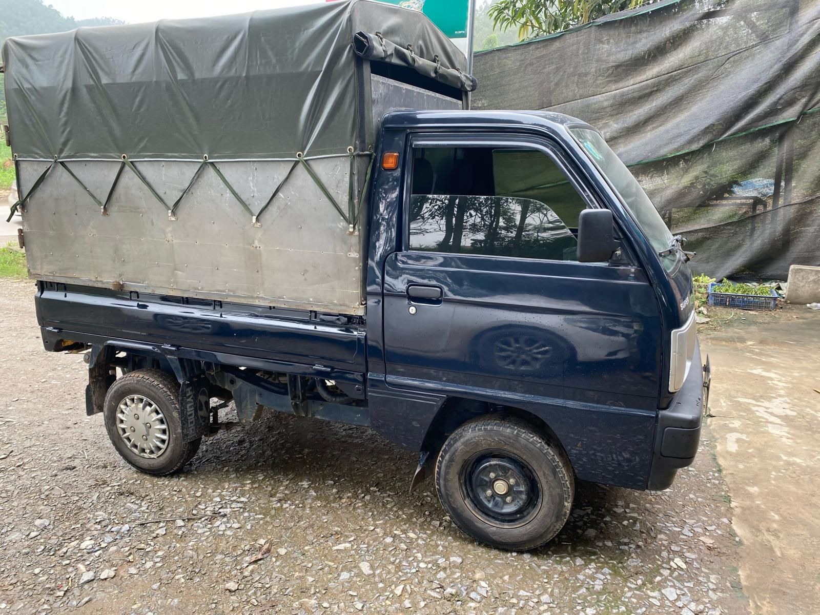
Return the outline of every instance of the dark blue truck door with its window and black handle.
<path id="1" fill-rule="evenodd" d="M 416 136 L 406 155 L 387 384 L 656 408 L 654 293 L 626 247 L 576 262 L 579 213 L 599 203 L 558 144 Z"/>

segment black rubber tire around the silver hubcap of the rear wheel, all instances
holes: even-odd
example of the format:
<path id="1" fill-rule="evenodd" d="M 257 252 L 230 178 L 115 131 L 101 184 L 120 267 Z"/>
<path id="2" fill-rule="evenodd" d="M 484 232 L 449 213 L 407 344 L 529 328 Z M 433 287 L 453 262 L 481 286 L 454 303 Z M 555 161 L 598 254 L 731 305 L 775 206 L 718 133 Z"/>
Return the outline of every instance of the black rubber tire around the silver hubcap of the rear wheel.
<path id="1" fill-rule="evenodd" d="M 165 449 L 156 457 L 144 457 L 126 444 L 117 426 L 120 403 L 131 395 L 149 399 L 161 411 L 167 426 Z M 120 456 L 130 465 L 153 476 L 166 476 L 180 471 L 199 449 L 201 438 L 182 441 L 180 426 L 180 384 L 164 371 L 144 369 L 131 371 L 117 379 L 105 397 L 103 409 L 108 438 Z"/>

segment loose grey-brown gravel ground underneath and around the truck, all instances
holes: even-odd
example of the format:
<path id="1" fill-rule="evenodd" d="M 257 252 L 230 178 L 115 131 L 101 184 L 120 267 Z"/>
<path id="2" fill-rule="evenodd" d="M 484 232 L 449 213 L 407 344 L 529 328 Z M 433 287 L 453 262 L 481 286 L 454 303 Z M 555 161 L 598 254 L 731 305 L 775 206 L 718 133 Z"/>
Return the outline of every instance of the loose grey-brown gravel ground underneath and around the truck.
<path id="1" fill-rule="evenodd" d="M 0 613 L 744 613 L 708 433 L 672 490 L 581 483 L 533 553 L 458 532 L 417 457 L 272 413 L 134 471 L 84 413 L 77 355 L 43 352 L 30 282 L 0 280 Z"/>

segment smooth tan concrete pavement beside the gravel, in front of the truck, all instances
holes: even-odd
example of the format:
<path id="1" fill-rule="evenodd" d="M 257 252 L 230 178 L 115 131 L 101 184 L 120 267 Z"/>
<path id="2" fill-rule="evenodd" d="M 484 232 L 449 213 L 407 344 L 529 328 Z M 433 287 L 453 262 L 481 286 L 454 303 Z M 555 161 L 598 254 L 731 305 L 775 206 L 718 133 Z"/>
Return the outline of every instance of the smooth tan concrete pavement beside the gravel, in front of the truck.
<path id="1" fill-rule="evenodd" d="M 740 578 L 756 615 L 820 613 L 820 312 L 737 321 L 701 344 Z"/>

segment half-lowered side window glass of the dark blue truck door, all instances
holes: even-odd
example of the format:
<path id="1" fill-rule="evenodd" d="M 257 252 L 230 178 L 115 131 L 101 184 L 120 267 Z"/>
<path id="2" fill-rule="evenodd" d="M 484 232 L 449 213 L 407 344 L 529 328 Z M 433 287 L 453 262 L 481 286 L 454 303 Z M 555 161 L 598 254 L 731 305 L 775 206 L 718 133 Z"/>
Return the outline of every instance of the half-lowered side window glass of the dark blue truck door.
<path id="1" fill-rule="evenodd" d="M 585 207 L 539 151 L 414 150 L 411 249 L 574 261 Z"/>

